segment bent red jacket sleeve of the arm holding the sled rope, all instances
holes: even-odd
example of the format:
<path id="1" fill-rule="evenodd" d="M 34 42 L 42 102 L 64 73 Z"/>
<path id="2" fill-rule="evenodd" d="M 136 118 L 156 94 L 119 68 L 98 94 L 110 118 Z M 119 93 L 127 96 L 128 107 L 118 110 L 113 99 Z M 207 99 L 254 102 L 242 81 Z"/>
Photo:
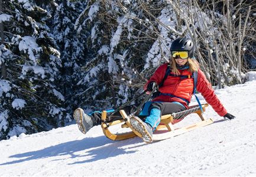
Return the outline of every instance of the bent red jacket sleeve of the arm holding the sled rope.
<path id="1" fill-rule="evenodd" d="M 159 85 L 163 80 L 164 75 L 166 74 L 167 67 L 168 67 L 168 63 L 164 63 L 160 65 L 160 67 L 158 67 L 157 70 L 155 70 L 155 73 L 153 74 L 153 76 L 151 76 L 150 79 L 145 84 L 144 90 L 147 90 L 147 86 L 151 81 L 155 81 Z"/>

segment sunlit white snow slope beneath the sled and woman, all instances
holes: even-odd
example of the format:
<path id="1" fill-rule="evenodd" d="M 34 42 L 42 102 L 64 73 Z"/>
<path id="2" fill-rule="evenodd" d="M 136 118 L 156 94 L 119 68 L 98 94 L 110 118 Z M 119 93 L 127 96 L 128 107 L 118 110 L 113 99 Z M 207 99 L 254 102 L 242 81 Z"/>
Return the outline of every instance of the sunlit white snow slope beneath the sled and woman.
<path id="1" fill-rule="evenodd" d="M 100 126 L 83 135 L 76 124 L 2 140 L 0 176 L 256 176 L 255 88 L 250 81 L 216 90 L 236 119 L 208 107 L 205 117 L 215 123 L 161 142 L 114 142 Z M 197 120 L 190 115 L 177 126 Z"/>

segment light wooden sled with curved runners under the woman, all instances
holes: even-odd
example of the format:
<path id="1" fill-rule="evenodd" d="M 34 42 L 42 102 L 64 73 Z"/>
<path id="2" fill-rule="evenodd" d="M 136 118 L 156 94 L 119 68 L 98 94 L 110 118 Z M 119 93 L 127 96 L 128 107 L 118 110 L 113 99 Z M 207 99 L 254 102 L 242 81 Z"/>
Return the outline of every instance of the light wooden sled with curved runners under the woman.
<path id="1" fill-rule="evenodd" d="M 208 106 L 208 104 L 202 104 L 203 112 L 205 112 L 205 108 Z M 200 110 L 199 105 L 191 106 L 189 109 L 183 110 L 182 112 L 167 114 L 164 116 L 161 116 L 161 122 L 158 125 L 157 129 L 153 133 L 153 141 L 168 139 L 170 137 L 178 136 L 183 133 L 189 132 L 191 130 L 197 129 L 198 127 L 203 127 L 208 124 L 213 123 L 212 119 L 205 119 L 203 117 L 203 112 Z M 115 120 L 113 122 L 106 122 L 106 111 L 102 112 L 102 130 L 106 137 L 108 137 L 111 140 L 124 140 L 129 139 L 131 137 L 140 136 L 140 134 L 136 134 L 136 132 L 125 132 L 125 133 L 111 133 L 109 130 L 110 126 L 114 126 L 115 124 L 121 124 L 122 128 L 130 128 L 132 130 L 131 124 L 129 123 L 129 116 L 124 112 L 124 110 L 120 110 L 120 113 L 122 115 L 121 120 Z M 196 113 L 201 121 L 190 124 L 189 126 L 184 126 L 179 129 L 174 128 L 174 124 L 177 122 L 180 122 L 180 120 L 184 119 L 187 115 L 191 113 Z M 141 137 L 141 136 L 140 136 Z"/>

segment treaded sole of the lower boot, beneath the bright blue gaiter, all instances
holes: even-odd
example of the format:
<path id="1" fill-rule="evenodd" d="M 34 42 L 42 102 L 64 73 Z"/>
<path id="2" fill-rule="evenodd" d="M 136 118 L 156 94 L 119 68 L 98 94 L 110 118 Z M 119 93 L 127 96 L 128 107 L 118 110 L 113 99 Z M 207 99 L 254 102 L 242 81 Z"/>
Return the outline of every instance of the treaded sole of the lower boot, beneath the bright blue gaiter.
<path id="1" fill-rule="evenodd" d="M 136 119 L 135 117 L 131 117 L 129 121 L 133 129 L 141 135 L 141 138 L 144 142 L 146 143 L 152 142 L 152 136 L 150 135 L 148 130 L 145 128 L 142 120 L 139 120 L 139 118 Z"/>

